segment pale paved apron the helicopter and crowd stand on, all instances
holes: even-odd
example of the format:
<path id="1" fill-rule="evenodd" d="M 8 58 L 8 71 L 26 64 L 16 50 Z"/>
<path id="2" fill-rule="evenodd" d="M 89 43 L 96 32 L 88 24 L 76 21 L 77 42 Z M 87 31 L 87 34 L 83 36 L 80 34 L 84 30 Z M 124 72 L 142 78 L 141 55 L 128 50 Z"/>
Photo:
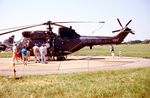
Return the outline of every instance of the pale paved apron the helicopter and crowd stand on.
<path id="1" fill-rule="evenodd" d="M 150 59 L 108 56 L 69 56 L 66 61 L 49 61 L 48 64 L 34 63 L 33 58 L 24 66 L 16 63 L 17 76 L 88 72 L 98 70 L 124 70 L 150 67 Z M 12 58 L 0 58 L 0 75 L 13 76 Z"/>

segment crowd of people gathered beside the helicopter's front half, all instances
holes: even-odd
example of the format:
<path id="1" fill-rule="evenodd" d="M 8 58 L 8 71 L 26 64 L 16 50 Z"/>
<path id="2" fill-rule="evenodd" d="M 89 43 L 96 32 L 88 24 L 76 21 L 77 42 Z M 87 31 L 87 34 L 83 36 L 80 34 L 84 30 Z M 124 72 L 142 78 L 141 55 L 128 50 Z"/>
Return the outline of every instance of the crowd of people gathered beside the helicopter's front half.
<path id="1" fill-rule="evenodd" d="M 35 63 L 47 64 L 48 60 L 55 60 L 54 57 L 54 47 L 50 46 L 49 40 L 42 44 L 35 44 L 32 49 L 24 46 L 21 51 L 17 51 L 17 44 L 13 45 L 13 62 L 18 62 L 19 60 L 27 65 L 30 61 L 30 50 L 33 50 Z"/>

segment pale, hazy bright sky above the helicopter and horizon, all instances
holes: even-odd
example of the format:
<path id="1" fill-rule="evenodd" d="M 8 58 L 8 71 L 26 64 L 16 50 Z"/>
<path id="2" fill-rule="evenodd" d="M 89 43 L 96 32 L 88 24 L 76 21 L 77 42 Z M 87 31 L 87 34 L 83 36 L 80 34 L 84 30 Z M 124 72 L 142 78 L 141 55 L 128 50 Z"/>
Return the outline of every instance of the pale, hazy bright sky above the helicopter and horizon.
<path id="1" fill-rule="evenodd" d="M 72 25 L 80 35 L 114 36 L 113 30 L 128 25 L 135 35 L 129 34 L 125 41 L 150 39 L 150 0 L 0 0 L 0 30 L 16 26 L 39 24 L 47 21 L 105 21 L 105 24 L 63 24 Z M 41 30 L 36 27 L 27 30 Z M 54 32 L 57 33 L 57 27 Z M 25 31 L 25 30 L 23 30 Z M 4 31 L 0 31 L 2 33 Z M 15 35 L 22 37 L 22 31 L 0 36 L 0 41 Z"/>

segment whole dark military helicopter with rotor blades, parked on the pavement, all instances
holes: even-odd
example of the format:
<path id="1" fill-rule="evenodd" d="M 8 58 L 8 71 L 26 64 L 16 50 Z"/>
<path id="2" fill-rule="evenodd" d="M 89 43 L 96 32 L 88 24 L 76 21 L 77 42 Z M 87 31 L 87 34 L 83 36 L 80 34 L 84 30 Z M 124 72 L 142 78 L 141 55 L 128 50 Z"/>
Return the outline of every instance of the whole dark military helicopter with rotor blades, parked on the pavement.
<path id="1" fill-rule="evenodd" d="M 23 31 L 22 32 L 23 39 L 17 43 L 17 50 L 21 51 L 24 45 L 26 45 L 31 49 L 32 51 L 31 55 L 33 55 L 32 48 L 35 44 L 41 46 L 43 43 L 46 43 L 48 39 L 50 39 L 51 40 L 50 46 L 54 47 L 53 55 L 57 57 L 57 60 L 65 60 L 66 55 L 74 53 L 85 46 L 89 46 L 90 49 L 92 49 L 94 45 L 120 44 L 129 33 L 135 34 L 132 29 L 127 27 L 132 20 L 127 22 L 127 24 L 124 27 L 122 26 L 118 18 L 117 21 L 121 26 L 121 29 L 112 31 L 112 33 L 119 32 L 119 34 L 112 37 L 81 36 L 72 28 L 72 26 L 66 27 L 64 25 L 61 25 L 61 23 L 88 23 L 84 21 L 72 21 L 72 22 L 71 21 L 70 22 L 47 21 L 42 24 L 23 26 L 15 30 L 0 33 L 0 35 L 16 32 L 19 30 L 24 30 L 32 27 L 46 25 L 48 27 L 47 30 Z M 104 21 L 101 21 L 99 23 L 104 23 Z M 53 25 L 59 27 L 58 35 L 52 31 Z"/>

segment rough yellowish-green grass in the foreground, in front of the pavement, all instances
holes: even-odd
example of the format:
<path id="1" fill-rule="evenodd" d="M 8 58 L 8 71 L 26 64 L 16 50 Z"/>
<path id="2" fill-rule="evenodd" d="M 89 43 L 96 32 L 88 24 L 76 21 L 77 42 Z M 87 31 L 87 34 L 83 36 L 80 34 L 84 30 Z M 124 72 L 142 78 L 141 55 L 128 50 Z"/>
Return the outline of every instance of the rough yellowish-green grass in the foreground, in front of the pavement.
<path id="1" fill-rule="evenodd" d="M 0 77 L 0 98 L 148 98 L 150 68 Z"/>

